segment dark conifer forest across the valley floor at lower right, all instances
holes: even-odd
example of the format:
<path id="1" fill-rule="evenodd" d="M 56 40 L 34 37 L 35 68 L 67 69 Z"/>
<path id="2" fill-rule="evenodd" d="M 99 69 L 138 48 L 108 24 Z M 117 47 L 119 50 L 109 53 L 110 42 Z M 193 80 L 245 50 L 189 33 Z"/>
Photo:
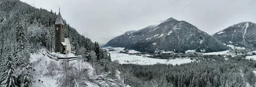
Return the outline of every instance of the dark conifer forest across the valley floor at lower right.
<path id="1" fill-rule="evenodd" d="M 193 58 L 192 58 L 193 59 Z M 204 56 L 181 65 L 123 64 L 125 84 L 133 87 L 246 87 L 255 86 L 256 62 L 241 57 Z"/>

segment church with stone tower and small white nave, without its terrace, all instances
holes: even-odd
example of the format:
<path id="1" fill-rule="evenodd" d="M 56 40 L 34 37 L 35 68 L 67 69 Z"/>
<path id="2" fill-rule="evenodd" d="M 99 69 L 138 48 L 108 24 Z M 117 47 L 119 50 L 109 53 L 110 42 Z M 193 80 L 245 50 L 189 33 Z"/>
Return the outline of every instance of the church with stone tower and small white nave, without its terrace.
<path id="1" fill-rule="evenodd" d="M 55 53 L 68 54 L 71 52 L 70 39 L 65 38 L 65 27 L 59 11 L 55 21 Z"/>

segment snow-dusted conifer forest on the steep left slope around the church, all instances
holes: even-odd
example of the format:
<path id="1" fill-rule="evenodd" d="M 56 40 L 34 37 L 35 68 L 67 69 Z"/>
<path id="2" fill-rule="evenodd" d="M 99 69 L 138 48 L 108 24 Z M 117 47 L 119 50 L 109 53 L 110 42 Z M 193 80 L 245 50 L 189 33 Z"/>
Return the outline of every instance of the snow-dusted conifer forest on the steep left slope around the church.
<path id="1" fill-rule="evenodd" d="M 33 76 L 30 75 L 30 54 L 41 48 L 49 52 L 54 48 L 54 23 L 56 13 L 42 8 L 35 8 L 19 0 L 0 0 L 0 87 L 31 87 Z M 65 37 L 70 38 L 72 50 L 82 55 L 84 61 L 97 65 L 100 72 L 108 72 L 110 56 L 99 48 L 98 42 L 80 35 L 64 20 Z M 66 72 L 70 72 L 71 68 Z M 66 73 L 64 72 L 64 73 Z M 58 79 L 59 86 L 73 87 L 74 79 Z M 72 74 L 72 75 L 73 75 Z M 87 72 L 79 72 L 86 75 Z M 72 76 L 71 75 L 71 76 Z M 67 75 L 66 75 L 67 76 Z M 69 80 L 67 80 L 69 79 Z"/>

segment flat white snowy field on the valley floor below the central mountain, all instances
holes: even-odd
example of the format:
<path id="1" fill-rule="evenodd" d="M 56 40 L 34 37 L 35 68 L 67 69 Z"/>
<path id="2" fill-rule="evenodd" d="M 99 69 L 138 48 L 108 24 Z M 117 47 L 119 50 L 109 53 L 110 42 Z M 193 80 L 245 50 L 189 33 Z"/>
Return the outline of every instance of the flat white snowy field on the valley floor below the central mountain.
<path id="1" fill-rule="evenodd" d="M 157 63 L 161 64 L 172 64 L 180 65 L 183 63 L 192 62 L 189 58 L 184 59 L 154 59 L 143 56 L 129 55 L 125 53 L 111 53 L 111 60 L 118 60 L 120 64 L 138 64 L 138 65 L 154 65 Z"/>

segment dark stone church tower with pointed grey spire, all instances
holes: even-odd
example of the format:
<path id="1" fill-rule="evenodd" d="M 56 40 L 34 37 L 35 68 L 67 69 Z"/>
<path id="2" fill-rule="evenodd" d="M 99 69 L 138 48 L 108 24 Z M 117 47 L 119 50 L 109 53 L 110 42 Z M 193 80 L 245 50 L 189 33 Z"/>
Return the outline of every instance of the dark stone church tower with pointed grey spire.
<path id="1" fill-rule="evenodd" d="M 65 27 L 61 17 L 61 12 L 59 8 L 59 13 L 55 21 L 55 53 L 63 53 L 65 50 L 61 42 L 64 42 L 65 39 Z"/>

